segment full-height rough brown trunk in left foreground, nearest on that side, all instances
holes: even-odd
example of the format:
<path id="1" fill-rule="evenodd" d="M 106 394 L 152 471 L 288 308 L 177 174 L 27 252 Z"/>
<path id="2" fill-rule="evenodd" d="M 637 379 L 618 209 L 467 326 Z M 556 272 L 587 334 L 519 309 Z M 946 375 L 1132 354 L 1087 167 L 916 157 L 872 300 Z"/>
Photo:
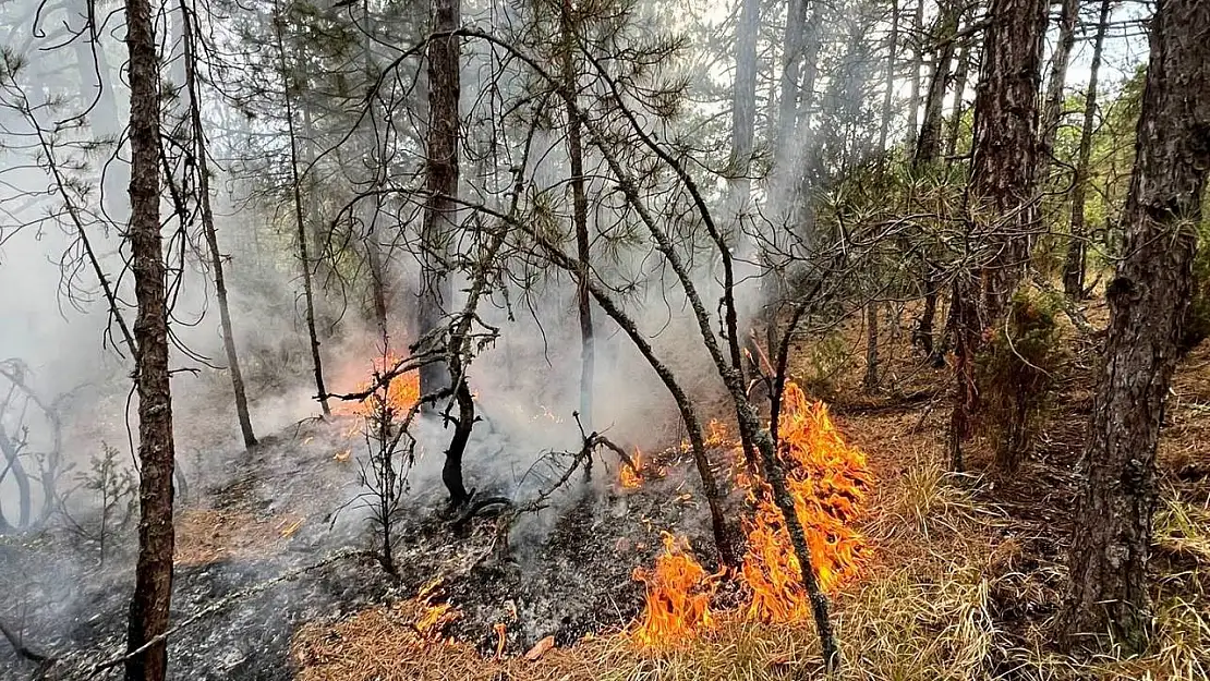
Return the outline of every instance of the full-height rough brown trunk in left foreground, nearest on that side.
<path id="1" fill-rule="evenodd" d="M 126 1 L 131 88 L 131 270 L 136 385 L 139 393 L 139 556 L 134 567 L 127 650 L 168 629 L 172 600 L 172 392 L 168 375 L 168 308 L 160 238 L 160 74 L 151 4 Z M 126 662 L 127 681 L 162 681 L 168 664 L 161 641 Z"/>

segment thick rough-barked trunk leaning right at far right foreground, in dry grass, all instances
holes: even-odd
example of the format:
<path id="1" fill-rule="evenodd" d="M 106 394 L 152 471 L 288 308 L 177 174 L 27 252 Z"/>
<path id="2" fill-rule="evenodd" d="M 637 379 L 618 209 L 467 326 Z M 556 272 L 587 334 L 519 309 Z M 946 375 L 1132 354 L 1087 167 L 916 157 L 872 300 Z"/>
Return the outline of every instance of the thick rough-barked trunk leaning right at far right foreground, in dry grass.
<path id="1" fill-rule="evenodd" d="M 1130 194 L 1125 256 L 1110 283 L 1111 319 L 1076 503 L 1068 644 L 1108 633 L 1147 647 L 1147 560 L 1156 444 L 1192 294 L 1197 226 L 1210 168 L 1210 4 L 1159 0 Z"/>

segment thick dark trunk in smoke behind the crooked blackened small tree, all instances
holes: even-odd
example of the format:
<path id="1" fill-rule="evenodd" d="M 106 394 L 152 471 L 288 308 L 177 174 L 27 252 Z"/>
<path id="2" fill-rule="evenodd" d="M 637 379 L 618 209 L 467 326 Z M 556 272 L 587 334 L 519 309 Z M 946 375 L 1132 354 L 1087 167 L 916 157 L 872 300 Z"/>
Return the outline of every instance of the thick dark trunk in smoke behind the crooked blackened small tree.
<path id="1" fill-rule="evenodd" d="M 453 31 L 461 23 L 460 0 L 432 0 L 433 31 Z M 422 339 L 437 333 L 445 318 L 454 289 L 449 275 L 449 244 L 456 227 L 459 177 L 459 37 L 449 36 L 428 44 L 428 137 L 425 163 L 425 202 L 420 262 L 420 301 L 416 307 L 416 334 Z M 417 340 L 419 340 L 417 339 Z M 444 362 L 420 368 L 420 393 L 430 394 L 450 387 Z M 450 490 L 453 492 L 453 490 Z"/>

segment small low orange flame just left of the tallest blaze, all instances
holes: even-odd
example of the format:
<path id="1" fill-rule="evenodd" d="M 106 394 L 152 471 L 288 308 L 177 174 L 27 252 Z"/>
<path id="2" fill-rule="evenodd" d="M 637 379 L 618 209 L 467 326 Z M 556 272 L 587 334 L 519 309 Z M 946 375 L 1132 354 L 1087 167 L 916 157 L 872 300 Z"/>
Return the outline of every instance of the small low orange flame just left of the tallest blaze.
<path id="1" fill-rule="evenodd" d="M 696 637 L 714 625 L 710 599 L 722 573 L 710 575 L 688 553 L 688 542 L 664 532 L 664 553 L 651 571 L 636 567 L 634 579 L 646 584 L 646 606 L 632 633 L 646 646 L 667 646 Z"/>

